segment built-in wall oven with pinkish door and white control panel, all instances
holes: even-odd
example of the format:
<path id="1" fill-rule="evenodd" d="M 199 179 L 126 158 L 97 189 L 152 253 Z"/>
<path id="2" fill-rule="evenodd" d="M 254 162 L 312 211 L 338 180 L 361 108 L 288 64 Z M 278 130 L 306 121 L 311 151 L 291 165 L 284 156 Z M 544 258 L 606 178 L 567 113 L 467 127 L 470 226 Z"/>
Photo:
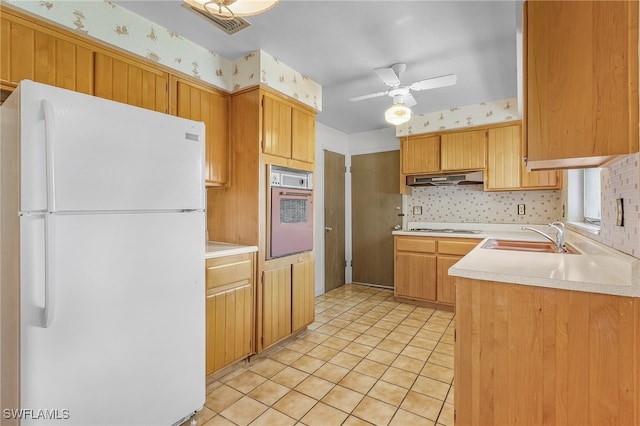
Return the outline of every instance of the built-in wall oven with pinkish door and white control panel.
<path id="1" fill-rule="evenodd" d="M 269 165 L 267 259 L 313 250 L 313 174 Z"/>

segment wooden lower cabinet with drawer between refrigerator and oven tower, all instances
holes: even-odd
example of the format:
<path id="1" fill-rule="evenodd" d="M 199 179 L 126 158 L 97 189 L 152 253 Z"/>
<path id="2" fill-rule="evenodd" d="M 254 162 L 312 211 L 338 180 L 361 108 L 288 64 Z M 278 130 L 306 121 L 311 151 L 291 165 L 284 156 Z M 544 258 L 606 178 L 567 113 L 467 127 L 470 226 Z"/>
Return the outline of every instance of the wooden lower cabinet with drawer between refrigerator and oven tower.
<path id="1" fill-rule="evenodd" d="M 206 261 L 206 374 L 253 353 L 255 254 Z"/>

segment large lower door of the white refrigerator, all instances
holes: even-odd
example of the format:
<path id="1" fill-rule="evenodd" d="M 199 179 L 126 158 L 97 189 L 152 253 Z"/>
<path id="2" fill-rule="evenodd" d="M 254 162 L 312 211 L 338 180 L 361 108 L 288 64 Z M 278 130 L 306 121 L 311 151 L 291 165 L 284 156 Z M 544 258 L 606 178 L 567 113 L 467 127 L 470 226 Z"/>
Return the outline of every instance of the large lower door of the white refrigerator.
<path id="1" fill-rule="evenodd" d="M 21 218 L 21 406 L 65 425 L 170 425 L 205 400 L 204 213 Z M 53 317 L 43 327 L 45 303 Z M 23 425 L 48 425 L 43 415 Z"/>

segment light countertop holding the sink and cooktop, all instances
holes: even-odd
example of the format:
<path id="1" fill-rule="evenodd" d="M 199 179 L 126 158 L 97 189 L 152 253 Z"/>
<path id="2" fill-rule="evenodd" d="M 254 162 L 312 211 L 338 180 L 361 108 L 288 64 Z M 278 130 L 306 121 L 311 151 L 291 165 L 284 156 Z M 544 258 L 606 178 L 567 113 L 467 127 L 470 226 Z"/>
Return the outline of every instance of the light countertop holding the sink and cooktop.
<path id="1" fill-rule="evenodd" d="M 409 226 L 412 224 L 410 223 Z M 421 224 L 425 225 L 425 224 Z M 457 277 L 514 284 L 640 297 L 640 259 L 567 230 L 565 241 L 580 254 L 534 253 L 482 248 L 484 239 L 546 241 L 523 225 L 429 224 L 433 228 L 479 229 L 479 234 L 395 231 L 394 235 L 482 238 L 471 252 L 449 269 Z M 444 226 L 437 226 L 444 225 Z M 535 225 L 546 233 L 545 225 Z"/>

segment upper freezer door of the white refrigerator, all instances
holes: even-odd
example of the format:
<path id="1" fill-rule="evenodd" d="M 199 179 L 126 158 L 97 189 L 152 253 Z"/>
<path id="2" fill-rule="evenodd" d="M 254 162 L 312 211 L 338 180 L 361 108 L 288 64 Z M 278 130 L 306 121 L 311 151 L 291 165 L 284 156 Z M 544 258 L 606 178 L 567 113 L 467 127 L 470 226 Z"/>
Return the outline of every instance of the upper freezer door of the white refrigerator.
<path id="1" fill-rule="evenodd" d="M 31 81 L 20 90 L 22 211 L 204 209 L 203 123 Z"/>

